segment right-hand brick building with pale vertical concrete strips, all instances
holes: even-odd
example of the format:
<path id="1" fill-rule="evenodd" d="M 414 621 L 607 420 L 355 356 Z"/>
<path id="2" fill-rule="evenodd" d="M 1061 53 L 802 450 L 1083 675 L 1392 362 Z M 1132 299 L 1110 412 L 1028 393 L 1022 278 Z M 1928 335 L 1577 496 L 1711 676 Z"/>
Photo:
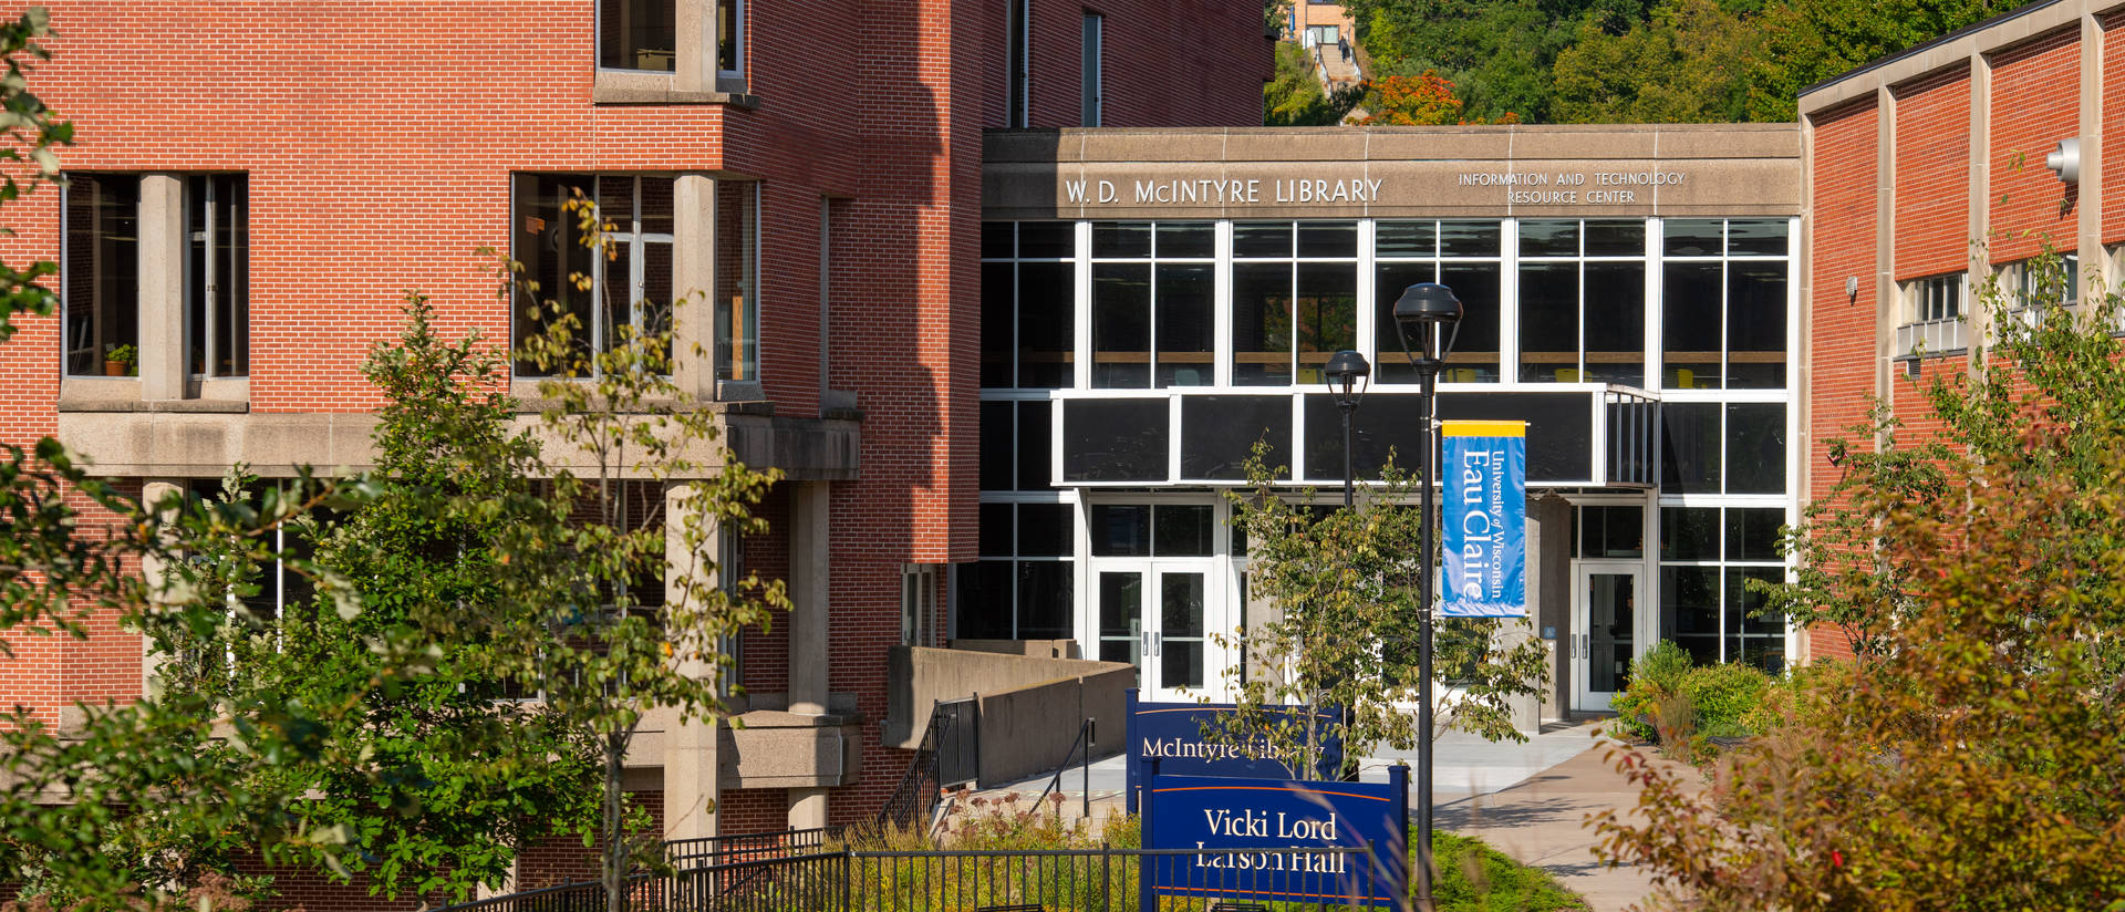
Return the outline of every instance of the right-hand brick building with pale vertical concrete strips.
<path id="1" fill-rule="evenodd" d="M 1868 395 L 1974 370 L 1976 289 L 2025 289 L 2057 253 L 2076 293 L 2119 289 L 2125 251 L 2125 4 L 2032 2 L 1800 94 L 1808 266 L 1802 495 Z M 1923 425 L 1917 427 L 1923 432 Z M 1849 653 L 1834 629 L 1821 655 Z"/>

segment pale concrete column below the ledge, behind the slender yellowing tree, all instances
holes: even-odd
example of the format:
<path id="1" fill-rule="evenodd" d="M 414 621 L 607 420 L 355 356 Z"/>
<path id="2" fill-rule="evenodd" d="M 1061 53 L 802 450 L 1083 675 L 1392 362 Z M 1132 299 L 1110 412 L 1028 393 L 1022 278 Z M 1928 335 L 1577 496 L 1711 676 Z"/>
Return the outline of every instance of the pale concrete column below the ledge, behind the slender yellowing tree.
<path id="1" fill-rule="evenodd" d="M 716 582 L 714 559 L 720 534 L 708 536 L 699 548 L 688 548 L 684 529 L 693 508 L 680 493 L 682 485 L 665 487 L 665 597 L 678 599 L 684 580 Z M 682 674 L 710 678 L 706 661 L 686 661 Z M 665 840 L 699 840 L 716 835 L 716 721 L 695 719 L 674 725 L 665 738 Z"/>

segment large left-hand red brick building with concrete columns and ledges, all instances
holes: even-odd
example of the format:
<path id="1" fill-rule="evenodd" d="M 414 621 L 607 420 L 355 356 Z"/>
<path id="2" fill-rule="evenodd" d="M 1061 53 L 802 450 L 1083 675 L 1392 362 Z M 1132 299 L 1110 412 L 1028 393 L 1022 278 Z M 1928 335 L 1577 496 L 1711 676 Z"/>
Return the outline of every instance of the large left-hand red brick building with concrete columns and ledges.
<path id="1" fill-rule="evenodd" d="M 620 225 L 595 295 L 706 293 L 676 332 L 710 357 L 682 353 L 676 381 L 786 476 L 774 531 L 722 551 L 788 578 L 797 610 L 742 642 L 746 731 L 638 742 L 631 782 L 672 835 L 856 821 L 910 765 L 884 736 L 922 731 L 892 714 L 895 648 L 941 644 L 948 568 L 980 557 L 982 132 L 1250 125 L 1271 70 L 1260 6 L 1235 0 L 55 2 L 51 21 L 34 85 L 79 125 L 70 183 L 11 204 L 0 247 L 62 264 L 64 313 L 0 347 L 11 442 L 57 436 L 151 495 L 234 463 L 359 468 L 378 398 L 357 366 L 402 289 L 453 334 L 521 338 L 476 251 L 559 287 L 576 189 Z M 582 302 L 595 338 L 625 315 Z M 140 638 L 96 634 L 17 642 L 0 699 L 66 725 L 138 695 Z M 563 861 L 542 878 L 586 872 Z"/>

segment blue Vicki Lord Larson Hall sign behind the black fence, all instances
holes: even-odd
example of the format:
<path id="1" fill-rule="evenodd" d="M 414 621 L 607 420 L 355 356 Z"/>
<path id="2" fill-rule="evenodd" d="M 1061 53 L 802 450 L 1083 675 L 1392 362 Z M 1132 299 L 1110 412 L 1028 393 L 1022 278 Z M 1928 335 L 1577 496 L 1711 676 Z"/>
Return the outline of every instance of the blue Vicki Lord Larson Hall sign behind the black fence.
<path id="1" fill-rule="evenodd" d="M 1141 908 L 1156 895 L 1402 906 L 1409 767 L 1388 782 L 1148 776 Z M 1360 848 L 1360 852 L 1334 852 Z"/>

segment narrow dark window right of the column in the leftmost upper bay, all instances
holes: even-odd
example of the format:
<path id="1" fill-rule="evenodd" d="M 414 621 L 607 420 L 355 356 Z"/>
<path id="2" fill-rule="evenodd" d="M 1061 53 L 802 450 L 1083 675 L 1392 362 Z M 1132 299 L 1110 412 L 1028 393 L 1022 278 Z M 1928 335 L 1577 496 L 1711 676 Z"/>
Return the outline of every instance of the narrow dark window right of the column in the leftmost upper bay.
<path id="1" fill-rule="evenodd" d="M 185 181 L 185 364 L 251 374 L 251 208 L 242 174 Z"/>

